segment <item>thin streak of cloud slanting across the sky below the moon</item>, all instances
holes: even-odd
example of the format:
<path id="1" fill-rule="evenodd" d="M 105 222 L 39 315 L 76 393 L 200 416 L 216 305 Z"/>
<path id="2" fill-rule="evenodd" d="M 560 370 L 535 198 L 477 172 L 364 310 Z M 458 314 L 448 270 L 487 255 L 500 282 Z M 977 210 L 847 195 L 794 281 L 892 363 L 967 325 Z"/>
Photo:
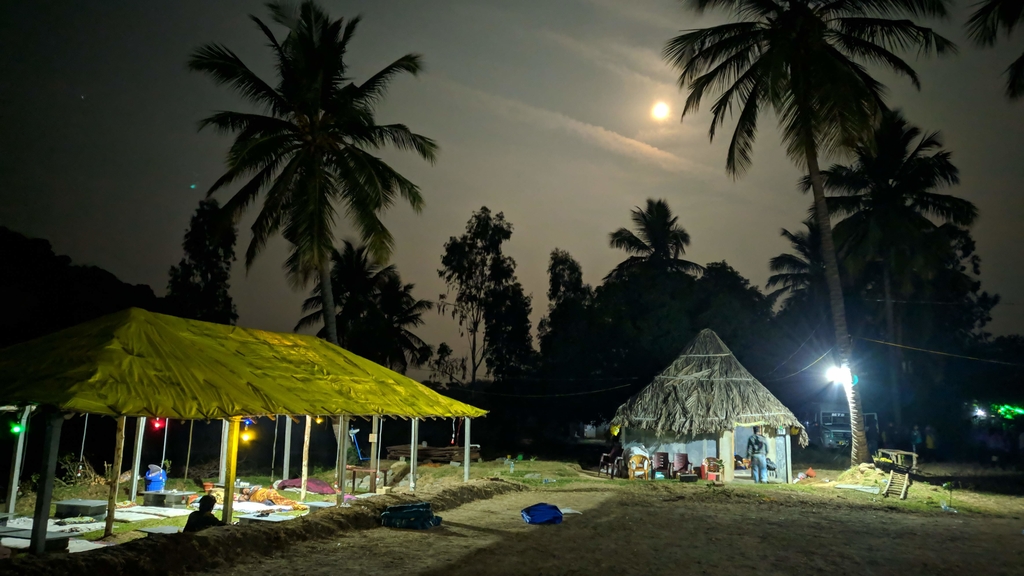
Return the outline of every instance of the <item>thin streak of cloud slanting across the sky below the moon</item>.
<path id="1" fill-rule="evenodd" d="M 552 112 L 518 100 L 483 92 L 451 80 L 434 78 L 433 82 L 452 93 L 471 99 L 478 106 L 487 108 L 507 118 L 525 122 L 539 128 L 570 133 L 613 154 L 639 160 L 669 172 L 694 172 L 703 170 L 702 166 L 679 158 L 670 152 L 624 136 L 607 128 L 581 122 L 558 112 Z"/>

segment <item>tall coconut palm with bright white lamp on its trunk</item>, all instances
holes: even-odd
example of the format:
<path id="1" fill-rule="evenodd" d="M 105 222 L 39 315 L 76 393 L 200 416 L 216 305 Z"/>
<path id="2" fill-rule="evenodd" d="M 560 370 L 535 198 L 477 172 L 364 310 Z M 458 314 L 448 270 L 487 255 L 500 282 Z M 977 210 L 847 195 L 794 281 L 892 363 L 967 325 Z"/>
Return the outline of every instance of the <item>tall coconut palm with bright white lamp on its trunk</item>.
<path id="1" fill-rule="evenodd" d="M 790 158 L 810 174 L 815 219 L 821 233 L 829 303 L 840 363 L 849 365 L 851 341 L 818 159 L 870 135 L 885 108 L 884 86 L 865 64 L 909 78 L 918 75 L 895 51 L 952 52 L 928 28 L 900 16 L 944 16 L 944 0 L 685 0 L 698 12 L 730 11 L 733 20 L 671 39 L 665 56 L 690 90 L 683 117 L 716 94 L 710 135 L 738 110 L 726 170 L 742 173 L 752 162 L 758 117 L 770 109 Z M 859 392 L 847 385 L 854 441 L 851 457 L 867 459 Z"/>

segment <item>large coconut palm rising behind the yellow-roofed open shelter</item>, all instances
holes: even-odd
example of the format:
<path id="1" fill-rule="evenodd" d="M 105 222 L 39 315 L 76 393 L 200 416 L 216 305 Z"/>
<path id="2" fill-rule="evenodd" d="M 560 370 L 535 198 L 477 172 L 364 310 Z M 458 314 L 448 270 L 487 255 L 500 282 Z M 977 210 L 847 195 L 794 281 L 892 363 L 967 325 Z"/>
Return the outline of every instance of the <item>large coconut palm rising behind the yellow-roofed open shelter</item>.
<path id="1" fill-rule="evenodd" d="M 246 266 L 281 234 L 291 244 L 289 279 L 303 287 L 312 278 L 329 287 L 338 207 L 355 225 L 378 258 L 389 254 L 393 239 L 380 215 L 398 199 L 423 207 L 420 189 L 375 153 L 386 147 L 412 151 L 433 162 L 437 146 L 401 124 L 378 124 L 375 109 L 391 81 L 417 75 L 421 57 L 407 54 L 361 84 L 348 76 L 345 55 L 359 18 L 332 19 L 312 1 L 299 6 L 268 4 L 273 23 L 287 29 L 283 39 L 256 16 L 250 18 L 268 41 L 278 74 L 271 85 L 230 49 L 206 44 L 188 60 L 239 92 L 259 112 L 217 112 L 200 123 L 234 134 L 227 171 L 208 194 L 246 180 L 226 203 L 234 218 L 263 196 L 246 251 Z M 334 310 L 333 290 L 322 290 L 323 306 Z M 334 315 L 326 318 L 327 339 L 338 343 Z"/>

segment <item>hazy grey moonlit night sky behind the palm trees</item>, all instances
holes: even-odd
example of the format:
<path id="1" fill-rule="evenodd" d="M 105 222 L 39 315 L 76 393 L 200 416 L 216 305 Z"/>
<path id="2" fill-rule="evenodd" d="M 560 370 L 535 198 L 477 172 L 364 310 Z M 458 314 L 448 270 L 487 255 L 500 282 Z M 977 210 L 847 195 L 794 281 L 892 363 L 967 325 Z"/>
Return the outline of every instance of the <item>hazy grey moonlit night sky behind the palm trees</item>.
<path id="1" fill-rule="evenodd" d="M 762 119 L 754 167 L 735 181 L 724 169 L 727 138 L 708 143 L 708 115 L 679 123 L 685 94 L 659 52 L 674 33 L 712 19 L 673 0 L 322 4 L 334 16 L 364 15 L 348 60 L 357 81 L 407 52 L 425 56 L 426 73 L 398 80 L 379 115 L 441 147 L 434 167 L 385 155 L 427 202 L 420 215 L 399 206 L 385 219 L 397 240 L 393 261 L 419 297 L 443 291 L 441 246 L 481 205 L 515 224 L 507 252 L 534 294 L 535 322 L 547 307 L 550 251 L 568 250 L 586 280 L 599 283 L 623 258 L 608 248 L 608 233 L 648 197 L 667 199 L 680 215 L 692 237 L 689 259 L 726 259 L 761 286 L 768 259 L 788 249 L 779 229 L 800 229 L 810 197 L 796 190 L 800 173 L 780 149 L 774 118 Z M 980 209 L 983 287 L 1006 302 L 990 329 L 1024 332 L 1024 102 L 1004 97 L 1001 77 L 1024 39 L 974 48 L 962 32 L 966 11 L 962 2 L 948 22 L 932 23 L 961 54 L 916 61 L 921 92 L 903 79 L 880 79 L 911 122 L 942 131 L 962 173 L 953 193 Z M 200 44 L 221 42 L 271 78 L 249 13 L 265 16 L 249 1 L 5 3 L 0 224 L 162 295 L 229 143 L 198 133 L 197 123 L 214 110 L 244 108 L 188 73 L 185 60 Z M 658 100 L 672 108 L 667 122 L 650 116 Z M 338 236 L 352 237 L 351 228 L 340 222 Z M 305 294 L 289 288 L 285 254 L 278 239 L 248 275 L 237 265 L 240 325 L 294 326 Z M 433 314 L 420 334 L 433 344 L 458 341 L 455 323 Z"/>

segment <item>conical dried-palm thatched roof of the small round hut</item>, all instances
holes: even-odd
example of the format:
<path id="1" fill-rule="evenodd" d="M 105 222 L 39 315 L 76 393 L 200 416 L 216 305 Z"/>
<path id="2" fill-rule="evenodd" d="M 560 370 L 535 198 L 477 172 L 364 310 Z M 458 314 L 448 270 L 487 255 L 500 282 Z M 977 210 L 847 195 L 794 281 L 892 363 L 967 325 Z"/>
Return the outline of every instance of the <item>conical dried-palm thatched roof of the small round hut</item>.
<path id="1" fill-rule="evenodd" d="M 799 426 L 768 388 L 732 356 L 718 334 L 702 330 L 654 381 L 618 407 L 611 423 L 679 438 L 718 435 L 736 424 Z"/>

